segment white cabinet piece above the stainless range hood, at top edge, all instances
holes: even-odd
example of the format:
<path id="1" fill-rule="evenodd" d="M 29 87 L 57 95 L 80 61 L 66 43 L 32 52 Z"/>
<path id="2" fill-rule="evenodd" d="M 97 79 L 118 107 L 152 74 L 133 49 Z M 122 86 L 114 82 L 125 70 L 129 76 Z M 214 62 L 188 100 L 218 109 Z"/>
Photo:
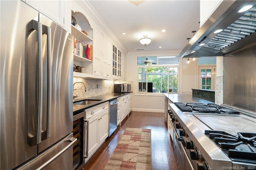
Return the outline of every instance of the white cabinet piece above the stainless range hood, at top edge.
<path id="1" fill-rule="evenodd" d="M 208 20 L 223 0 L 200 0 L 200 27 Z"/>

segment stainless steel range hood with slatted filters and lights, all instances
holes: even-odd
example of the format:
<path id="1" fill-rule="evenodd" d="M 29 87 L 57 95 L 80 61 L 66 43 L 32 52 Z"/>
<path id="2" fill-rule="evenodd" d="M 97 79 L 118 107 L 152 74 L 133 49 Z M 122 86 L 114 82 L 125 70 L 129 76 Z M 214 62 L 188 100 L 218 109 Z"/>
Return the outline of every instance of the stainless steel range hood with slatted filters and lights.
<path id="1" fill-rule="evenodd" d="M 238 13 L 246 5 L 253 8 Z M 223 31 L 214 34 L 219 29 Z M 256 1 L 224 0 L 182 49 L 180 57 L 224 56 L 256 43 L 255 32 Z M 202 43 L 205 45 L 199 46 Z"/>

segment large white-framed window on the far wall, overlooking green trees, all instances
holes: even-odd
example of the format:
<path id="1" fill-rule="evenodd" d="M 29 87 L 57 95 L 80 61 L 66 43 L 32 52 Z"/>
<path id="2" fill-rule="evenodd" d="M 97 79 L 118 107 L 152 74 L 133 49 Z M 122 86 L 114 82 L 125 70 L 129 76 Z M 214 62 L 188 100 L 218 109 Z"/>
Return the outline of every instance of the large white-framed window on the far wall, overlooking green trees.
<path id="1" fill-rule="evenodd" d="M 178 56 L 138 57 L 138 92 L 178 93 L 178 67 L 168 65 L 178 65 Z"/>

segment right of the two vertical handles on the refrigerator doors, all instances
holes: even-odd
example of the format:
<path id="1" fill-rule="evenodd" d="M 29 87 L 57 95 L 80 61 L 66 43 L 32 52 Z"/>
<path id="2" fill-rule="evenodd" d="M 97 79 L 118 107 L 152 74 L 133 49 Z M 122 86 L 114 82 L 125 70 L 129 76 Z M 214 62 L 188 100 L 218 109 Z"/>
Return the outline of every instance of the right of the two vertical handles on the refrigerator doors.
<path id="1" fill-rule="evenodd" d="M 46 131 L 42 132 L 42 140 L 50 138 L 51 136 L 51 115 L 52 115 L 52 35 L 51 28 L 42 25 L 42 33 L 47 35 L 47 121 Z M 46 88 L 46 87 L 44 87 Z M 46 134 L 46 135 L 44 135 Z"/>

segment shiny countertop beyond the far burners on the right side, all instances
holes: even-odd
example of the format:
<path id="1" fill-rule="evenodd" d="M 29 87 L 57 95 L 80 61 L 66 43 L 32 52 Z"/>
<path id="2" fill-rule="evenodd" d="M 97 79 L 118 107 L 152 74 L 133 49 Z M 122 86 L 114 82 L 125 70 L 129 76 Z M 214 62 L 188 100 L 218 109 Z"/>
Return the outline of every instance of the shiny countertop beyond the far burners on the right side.
<path id="1" fill-rule="evenodd" d="M 172 103 L 180 102 L 180 103 L 213 103 L 212 101 L 208 101 L 206 99 L 201 99 L 198 97 L 192 97 L 192 95 L 181 95 L 181 94 L 164 94 Z"/>

